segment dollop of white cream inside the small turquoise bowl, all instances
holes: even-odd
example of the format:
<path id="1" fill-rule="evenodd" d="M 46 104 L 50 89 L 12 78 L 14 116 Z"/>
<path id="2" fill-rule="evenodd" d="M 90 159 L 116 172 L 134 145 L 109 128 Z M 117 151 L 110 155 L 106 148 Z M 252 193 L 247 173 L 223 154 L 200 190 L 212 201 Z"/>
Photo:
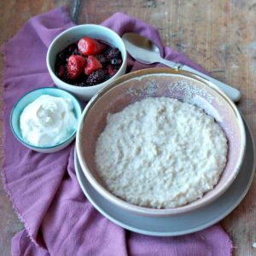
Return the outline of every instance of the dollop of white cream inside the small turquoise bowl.
<path id="1" fill-rule="evenodd" d="M 50 147 L 64 141 L 77 126 L 70 99 L 39 96 L 20 114 L 22 137 L 34 146 Z"/>

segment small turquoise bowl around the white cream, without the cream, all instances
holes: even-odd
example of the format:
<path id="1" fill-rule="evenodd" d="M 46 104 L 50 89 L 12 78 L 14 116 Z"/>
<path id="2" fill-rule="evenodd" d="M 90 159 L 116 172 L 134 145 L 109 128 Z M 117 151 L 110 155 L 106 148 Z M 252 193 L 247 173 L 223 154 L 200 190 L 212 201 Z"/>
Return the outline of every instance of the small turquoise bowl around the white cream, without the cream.
<path id="1" fill-rule="evenodd" d="M 63 148 L 66 148 L 68 144 L 73 142 L 73 139 L 76 137 L 76 130 L 70 134 L 69 137 L 67 137 L 64 141 L 61 143 L 56 144 L 55 146 L 51 147 L 38 147 L 34 146 L 30 143 L 28 143 L 21 135 L 20 132 L 20 114 L 22 113 L 23 109 L 30 104 L 31 102 L 35 101 L 39 96 L 42 95 L 50 95 L 50 96 L 56 96 L 56 97 L 63 97 L 63 98 L 69 98 L 73 103 L 73 111 L 77 118 L 77 124 L 79 124 L 79 119 L 81 117 L 82 109 L 78 102 L 78 100 L 70 93 L 68 93 L 66 90 L 57 89 L 54 87 L 43 87 L 36 90 L 29 91 L 24 96 L 21 96 L 21 98 L 18 100 L 18 102 L 15 103 L 14 108 L 12 109 L 12 112 L 10 114 L 10 127 L 13 131 L 16 139 L 22 143 L 26 148 L 31 148 L 32 150 L 41 152 L 41 153 L 53 153 L 56 151 L 60 151 Z"/>

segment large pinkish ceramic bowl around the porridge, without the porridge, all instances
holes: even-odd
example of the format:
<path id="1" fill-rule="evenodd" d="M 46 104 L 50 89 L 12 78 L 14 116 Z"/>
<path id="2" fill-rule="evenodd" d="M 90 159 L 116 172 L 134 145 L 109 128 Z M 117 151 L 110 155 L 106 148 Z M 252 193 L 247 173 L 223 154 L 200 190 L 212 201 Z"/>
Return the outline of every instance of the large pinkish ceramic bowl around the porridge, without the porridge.
<path id="1" fill-rule="evenodd" d="M 202 198 L 183 207 L 154 209 L 132 205 L 109 192 L 97 175 L 94 158 L 96 140 L 104 130 L 108 113 L 119 112 L 127 105 L 149 96 L 177 98 L 203 108 L 221 125 L 228 138 L 227 165 L 218 184 Z M 90 100 L 82 113 L 76 147 L 84 175 L 100 195 L 127 211 L 162 217 L 205 207 L 222 195 L 240 170 L 246 147 L 245 137 L 243 121 L 236 105 L 214 84 L 193 73 L 171 68 L 151 68 L 114 80 Z"/>

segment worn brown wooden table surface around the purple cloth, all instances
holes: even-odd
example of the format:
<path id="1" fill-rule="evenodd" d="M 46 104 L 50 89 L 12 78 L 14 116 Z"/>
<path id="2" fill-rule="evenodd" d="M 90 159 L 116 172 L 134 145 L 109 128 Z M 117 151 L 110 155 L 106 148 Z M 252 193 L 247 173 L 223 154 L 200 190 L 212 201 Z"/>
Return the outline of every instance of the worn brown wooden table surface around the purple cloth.
<path id="1" fill-rule="evenodd" d="M 255 0 L 23 0 L 1 1 L 0 44 L 33 15 L 66 5 L 78 24 L 100 23 L 119 11 L 155 26 L 163 42 L 241 90 L 241 112 L 256 135 Z M 3 69 L 3 57 L 1 57 Z M 3 86 L 1 87 L 3 94 Z M 2 102 L 1 102 L 2 104 Z M 3 105 L 3 104 L 2 104 Z M 1 106 L 3 109 L 3 106 Z M 3 121 L 1 131 L 3 131 Z M 3 134 L 3 133 L 1 133 Z M 246 198 L 222 224 L 234 242 L 234 255 L 256 255 L 256 177 Z M 0 185 L 0 254 L 9 255 L 11 237 L 22 228 Z"/>

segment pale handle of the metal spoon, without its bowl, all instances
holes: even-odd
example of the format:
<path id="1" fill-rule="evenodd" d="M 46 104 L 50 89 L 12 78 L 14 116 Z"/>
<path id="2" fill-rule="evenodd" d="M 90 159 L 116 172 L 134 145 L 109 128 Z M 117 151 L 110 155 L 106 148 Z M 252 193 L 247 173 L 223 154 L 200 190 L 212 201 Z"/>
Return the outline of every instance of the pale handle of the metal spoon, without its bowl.
<path id="1" fill-rule="evenodd" d="M 158 60 L 160 63 L 162 64 L 165 64 L 166 66 L 168 67 L 172 67 L 172 68 L 176 68 L 176 69 L 181 69 L 181 70 L 185 70 L 185 71 L 189 71 L 190 73 L 195 73 L 199 76 L 201 76 L 202 78 L 204 79 L 207 79 L 208 81 L 212 82 L 212 84 L 215 84 L 218 86 L 218 88 L 220 88 L 221 90 L 224 91 L 224 93 L 230 97 L 230 99 L 233 101 L 233 102 L 239 102 L 240 98 L 241 98 L 241 92 L 239 90 L 237 90 L 236 88 L 234 87 L 231 87 L 230 85 L 228 84 L 224 84 L 220 81 L 218 81 L 217 79 L 212 79 L 211 77 L 207 76 L 206 74 L 204 73 L 201 73 L 197 70 L 195 70 L 194 68 L 192 67 L 189 67 L 189 66 L 186 66 L 186 65 L 183 65 L 181 63 L 176 63 L 176 62 L 173 62 L 173 61 L 167 61 L 166 59 L 163 59 L 163 58 L 160 58 Z"/>

